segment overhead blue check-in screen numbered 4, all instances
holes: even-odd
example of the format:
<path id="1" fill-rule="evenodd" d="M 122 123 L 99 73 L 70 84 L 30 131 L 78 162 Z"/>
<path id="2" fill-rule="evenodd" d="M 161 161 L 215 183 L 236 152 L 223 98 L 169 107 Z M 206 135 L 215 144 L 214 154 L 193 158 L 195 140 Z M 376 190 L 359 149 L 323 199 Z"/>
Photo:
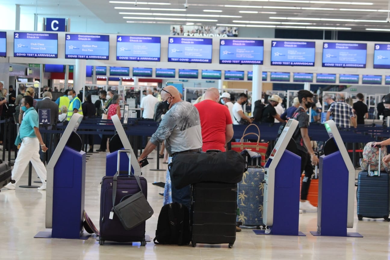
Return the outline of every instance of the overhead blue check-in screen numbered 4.
<path id="1" fill-rule="evenodd" d="M 117 60 L 160 61 L 161 37 L 117 35 Z"/>

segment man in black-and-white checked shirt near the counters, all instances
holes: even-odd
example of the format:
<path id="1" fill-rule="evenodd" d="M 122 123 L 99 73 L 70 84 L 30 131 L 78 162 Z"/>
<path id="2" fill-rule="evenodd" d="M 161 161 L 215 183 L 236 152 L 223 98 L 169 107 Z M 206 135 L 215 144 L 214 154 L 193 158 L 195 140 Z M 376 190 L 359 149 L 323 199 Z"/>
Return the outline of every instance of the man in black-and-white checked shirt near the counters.
<path id="1" fill-rule="evenodd" d="M 326 121 L 329 120 L 330 114 L 332 114 L 337 127 L 348 128 L 349 120 L 351 120 L 353 127 L 356 128 L 356 119 L 352 107 L 344 102 L 344 95 L 338 94 L 336 100 L 337 102 L 332 103 L 326 113 Z"/>

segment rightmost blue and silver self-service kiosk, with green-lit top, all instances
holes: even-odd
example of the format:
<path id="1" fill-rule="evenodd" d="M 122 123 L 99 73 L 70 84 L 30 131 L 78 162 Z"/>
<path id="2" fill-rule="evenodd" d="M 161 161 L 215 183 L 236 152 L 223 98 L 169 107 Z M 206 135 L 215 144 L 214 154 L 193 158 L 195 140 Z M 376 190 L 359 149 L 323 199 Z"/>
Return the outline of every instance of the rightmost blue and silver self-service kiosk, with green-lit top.
<path id="1" fill-rule="evenodd" d="M 333 120 L 324 124 L 329 140 L 319 158 L 317 231 L 312 235 L 362 237 L 353 228 L 355 168 Z"/>

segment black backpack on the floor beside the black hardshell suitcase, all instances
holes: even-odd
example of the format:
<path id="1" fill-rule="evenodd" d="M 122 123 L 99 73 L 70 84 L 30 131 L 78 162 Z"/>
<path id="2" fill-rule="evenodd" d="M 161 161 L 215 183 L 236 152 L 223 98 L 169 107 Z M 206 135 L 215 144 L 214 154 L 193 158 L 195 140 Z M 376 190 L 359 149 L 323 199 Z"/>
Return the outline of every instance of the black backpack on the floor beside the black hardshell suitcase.
<path id="1" fill-rule="evenodd" d="M 154 244 L 182 246 L 190 244 L 190 241 L 190 212 L 188 208 L 177 202 L 164 205 L 158 216 Z"/>

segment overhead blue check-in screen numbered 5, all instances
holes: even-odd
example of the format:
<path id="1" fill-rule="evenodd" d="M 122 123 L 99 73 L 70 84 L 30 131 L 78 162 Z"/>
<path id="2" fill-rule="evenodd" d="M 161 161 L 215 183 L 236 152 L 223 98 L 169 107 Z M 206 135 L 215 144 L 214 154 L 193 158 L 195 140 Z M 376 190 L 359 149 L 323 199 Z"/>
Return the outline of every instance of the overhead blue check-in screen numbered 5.
<path id="1" fill-rule="evenodd" d="M 213 39 L 169 37 L 168 62 L 211 63 Z"/>

